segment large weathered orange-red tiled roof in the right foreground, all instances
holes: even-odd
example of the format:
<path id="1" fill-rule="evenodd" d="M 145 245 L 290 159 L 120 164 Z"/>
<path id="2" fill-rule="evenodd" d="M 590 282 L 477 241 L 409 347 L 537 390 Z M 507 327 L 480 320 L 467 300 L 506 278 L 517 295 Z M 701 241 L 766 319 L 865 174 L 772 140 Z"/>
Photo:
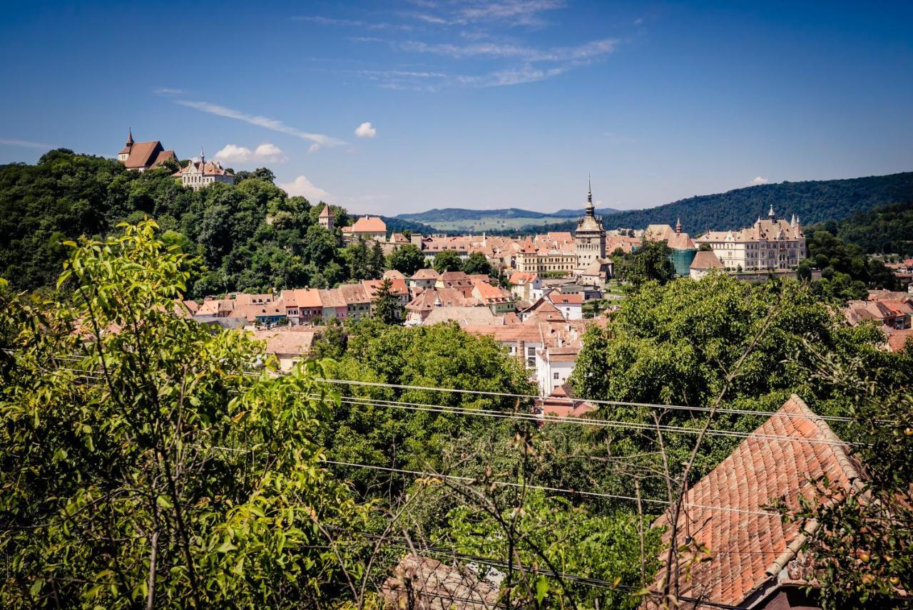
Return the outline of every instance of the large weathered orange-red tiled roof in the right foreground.
<path id="1" fill-rule="evenodd" d="M 687 522 L 680 521 L 679 535 L 684 539 L 687 531 L 696 543 L 708 547 L 712 558 L 692 568 L 690 579 L 684 569 L 680 570 L 679 595 L 743 605 L 784 568 L 790 572 L 790 562 L 803 541 L 798 522 L 783 523 L 777 514 L 763 514 L 770 512 L 766 505 L 782 497 L 790 507 L 798 508 L 800 494 L 806 498 L 813 495 L 810 478 L 826 475 L 847 489 L 859 479 L 845 445 L 802 398 L 792 395 L 778 413 L 792 417 L 768 418 L 755 430 L 758 436 L 743 440 L 687 492 L 686 501 L 691 506 L 683 512 L 682 519 Z M 667 524 L 666 515 L 655 523 L 660 527 Z M 664 535 L 666 543 L 669 535 Z M 659 574 L 665 574 L 662 568 Z M 801 579 L 801 574 L 790 576 L 793 582 Z"/>

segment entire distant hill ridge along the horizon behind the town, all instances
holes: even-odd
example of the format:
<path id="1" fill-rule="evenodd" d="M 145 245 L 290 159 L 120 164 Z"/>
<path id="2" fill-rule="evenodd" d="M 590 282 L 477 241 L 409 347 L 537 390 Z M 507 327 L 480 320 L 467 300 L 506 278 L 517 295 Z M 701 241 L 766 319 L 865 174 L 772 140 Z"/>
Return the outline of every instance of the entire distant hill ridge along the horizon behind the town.
<path id="1" fill-rule="evenodd" d="M 886 176 L 867 176 L 828 181 L 780 182 L 744 187 L 712 195 L 698 195 L 644 210 L 597 210 L 606 229 L 643 229 L 647 224 L 675 224 L 680 218 L 687 233 L 722 231 L 749 226 L 766 216 L 773 206 L 780 217 L 799 216 L 803 224 L 838 221 L 879 205 L 913 202 L 913 171 Z M 396 219 L 421 222 L 436 230 L 468 230 L 530 233 L 540 230 L 572 231 L 580 209 L 533 212 L 519 208 L 467 210 L 444 208 Z M 530 222 L 525 222 L 530 219 Z"/>

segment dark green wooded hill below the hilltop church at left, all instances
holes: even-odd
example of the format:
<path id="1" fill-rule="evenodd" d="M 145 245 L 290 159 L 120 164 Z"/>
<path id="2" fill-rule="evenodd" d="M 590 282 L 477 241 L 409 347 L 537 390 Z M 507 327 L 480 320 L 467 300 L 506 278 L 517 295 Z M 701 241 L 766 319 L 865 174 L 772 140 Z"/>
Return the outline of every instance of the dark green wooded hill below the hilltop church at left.
<path id="1" fill-rule="evenodd" d="M 138 173 L 100 157 L 52 150 L 36 165 L 0 167 L 0 276 L 17 288 L 52 285 L 65 239 L 118 232 L 119 222 L 156 220 L 165 243 L 195 258 L 191 295 L 324 287 L 383 272 L 380 248 L 341 248 L 339 229 L 317 222 L 322 206 L 289 197 L 266 169 L 234 185 L 182 187 L 168 170 Z M 349 222 L 333 206 L 337 227 Z"/>

